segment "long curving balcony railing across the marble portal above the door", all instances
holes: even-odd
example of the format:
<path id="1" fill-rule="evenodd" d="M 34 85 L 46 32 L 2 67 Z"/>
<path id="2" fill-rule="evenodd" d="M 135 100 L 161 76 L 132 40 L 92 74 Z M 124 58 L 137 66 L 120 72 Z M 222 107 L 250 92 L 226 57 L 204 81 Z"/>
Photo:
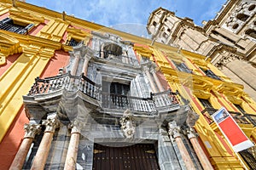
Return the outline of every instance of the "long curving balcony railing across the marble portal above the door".
<path id="1" fill-rule="evenodd" d="M 178 104 L 175 95 L 169 90 L 158 94 L 151 94 L 150 98 L 108 94 L 102 92 L 100 84 L 92 82 L 89 78 L 84 77 L 84 75 L 79 77 L 72 76 L 70 72 L 56 77 L 36 78 L 27 96 L 58 93 L 62 89 L 71 92 L 79 90 L 90 98 L 102 101 L 102 108 L 116 110 L 129 109 L 137 112 L 148 112 L 152 115 L 160 109 L 170 110 L 172 106 Z"/>

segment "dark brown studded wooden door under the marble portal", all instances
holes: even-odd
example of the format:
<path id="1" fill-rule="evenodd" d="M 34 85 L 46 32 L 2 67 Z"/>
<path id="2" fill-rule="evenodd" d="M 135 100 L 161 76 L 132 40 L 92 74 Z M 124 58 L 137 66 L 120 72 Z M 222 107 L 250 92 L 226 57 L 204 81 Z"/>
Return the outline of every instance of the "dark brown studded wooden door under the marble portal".
<path id="1" fill-rule="evenodd" d="M 154 144 L 133 144 L 125 147 L 94 145 L 94 170 L 159 170 Z"/>

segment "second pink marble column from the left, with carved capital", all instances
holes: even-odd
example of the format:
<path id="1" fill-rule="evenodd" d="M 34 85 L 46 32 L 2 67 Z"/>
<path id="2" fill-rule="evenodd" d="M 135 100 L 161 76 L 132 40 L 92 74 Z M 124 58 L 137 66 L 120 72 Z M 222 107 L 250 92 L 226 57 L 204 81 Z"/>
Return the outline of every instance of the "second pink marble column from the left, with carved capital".
<path id="1" fill-rule="evenodd" d="M 44 120 L 42 124 L 45 126 L 44 136 L 39 144 L 37 154 L 32 162 L 31 169 L 43 170 L 47 157 L 49 155 L 50 144 L 55 133 L 55 128 L 59 126 L 59 121 L 56 118 Z"/>

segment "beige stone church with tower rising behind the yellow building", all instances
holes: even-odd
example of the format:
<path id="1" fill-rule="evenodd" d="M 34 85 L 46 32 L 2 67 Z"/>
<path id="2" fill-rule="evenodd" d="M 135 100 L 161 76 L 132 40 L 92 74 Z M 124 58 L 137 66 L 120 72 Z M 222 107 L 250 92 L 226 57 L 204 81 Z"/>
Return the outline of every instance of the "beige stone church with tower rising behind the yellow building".
<path id="1" fill-rule="evenodd" d="M 147 29 L 154 41 L 211 58 L 213 65 L 241 83 L 255 100 L 255 5 L 253 0 L 228 0 L 214 19 L 203 21 L 203 26 L 158 8 L 150 14 Z"/>

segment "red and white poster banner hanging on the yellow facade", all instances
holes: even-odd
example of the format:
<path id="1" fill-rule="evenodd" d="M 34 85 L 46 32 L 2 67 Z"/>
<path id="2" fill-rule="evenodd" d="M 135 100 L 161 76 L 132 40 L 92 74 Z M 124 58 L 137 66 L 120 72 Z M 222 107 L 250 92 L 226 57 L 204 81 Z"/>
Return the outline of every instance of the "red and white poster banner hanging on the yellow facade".
<path id="1" fill-rule="evenodd" d="M 212 119 L 235 152 L 246 150 L 253 146 L 251 140 L 249 140 L 245 133 L 242 132 L 241 128 L 224 107 L 216 111 L 212 115 Z"/>

